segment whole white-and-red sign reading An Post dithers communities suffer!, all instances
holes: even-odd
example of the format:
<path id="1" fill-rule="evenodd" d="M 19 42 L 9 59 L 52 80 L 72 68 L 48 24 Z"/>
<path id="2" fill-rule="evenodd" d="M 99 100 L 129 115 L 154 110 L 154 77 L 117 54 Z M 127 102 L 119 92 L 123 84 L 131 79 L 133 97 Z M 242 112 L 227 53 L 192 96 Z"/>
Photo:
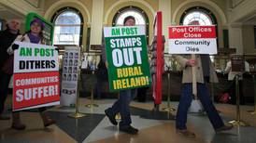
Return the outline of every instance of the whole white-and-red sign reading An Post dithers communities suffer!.
<path id="1" fill-rule="evenodd" d="M 13 110 L 60 104 L 58 52 L 54 46 L 15 42 Z"/>

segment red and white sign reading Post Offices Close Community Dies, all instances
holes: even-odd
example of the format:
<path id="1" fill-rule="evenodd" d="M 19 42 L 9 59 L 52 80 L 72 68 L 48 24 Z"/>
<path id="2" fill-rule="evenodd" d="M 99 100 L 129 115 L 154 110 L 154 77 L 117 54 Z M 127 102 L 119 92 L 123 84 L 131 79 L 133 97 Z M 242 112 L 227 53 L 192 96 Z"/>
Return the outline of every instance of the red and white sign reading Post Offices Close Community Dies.
<path id="1" fill-rule="evenodd" d="M 217 54 L 215 26 L 170 26 L 169 53 Z"/>

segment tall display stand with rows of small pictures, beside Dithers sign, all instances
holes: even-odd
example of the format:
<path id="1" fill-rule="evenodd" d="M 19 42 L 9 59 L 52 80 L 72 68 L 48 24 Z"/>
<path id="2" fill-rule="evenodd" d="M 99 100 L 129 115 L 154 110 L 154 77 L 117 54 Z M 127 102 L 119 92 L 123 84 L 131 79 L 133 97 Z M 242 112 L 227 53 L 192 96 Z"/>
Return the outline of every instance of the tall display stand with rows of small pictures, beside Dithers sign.
<path id="1" fill-rule="evenodd" d="M 61 105 L 72 106 L 76 104 L 78 95 L 80 48 L 66 46 L 64 50 Z"/>

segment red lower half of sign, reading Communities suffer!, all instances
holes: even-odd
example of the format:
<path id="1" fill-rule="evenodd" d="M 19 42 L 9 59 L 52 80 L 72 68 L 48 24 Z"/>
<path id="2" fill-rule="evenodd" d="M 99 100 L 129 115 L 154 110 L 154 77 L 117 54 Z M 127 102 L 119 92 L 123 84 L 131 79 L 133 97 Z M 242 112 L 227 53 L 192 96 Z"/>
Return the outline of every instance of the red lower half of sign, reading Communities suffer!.
<path id="1" fill-rule="evenodd" d="M 59 71 L 18 73 L 13 76 L 13 109 L 26 110 L 60 102 Z"/>

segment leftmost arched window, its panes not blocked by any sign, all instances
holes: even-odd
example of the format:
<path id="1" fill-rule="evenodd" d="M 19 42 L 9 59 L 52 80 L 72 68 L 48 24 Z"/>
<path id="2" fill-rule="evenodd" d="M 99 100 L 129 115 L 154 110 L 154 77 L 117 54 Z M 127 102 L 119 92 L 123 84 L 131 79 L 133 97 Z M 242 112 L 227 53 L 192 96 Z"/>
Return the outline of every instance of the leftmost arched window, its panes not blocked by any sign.
<path id="1" fill-rule="evenodd" d="M 54 23 L 54 45 L 81 45 L 83 18 L 76 8 L 59 9 L 51 21 Z"/>

